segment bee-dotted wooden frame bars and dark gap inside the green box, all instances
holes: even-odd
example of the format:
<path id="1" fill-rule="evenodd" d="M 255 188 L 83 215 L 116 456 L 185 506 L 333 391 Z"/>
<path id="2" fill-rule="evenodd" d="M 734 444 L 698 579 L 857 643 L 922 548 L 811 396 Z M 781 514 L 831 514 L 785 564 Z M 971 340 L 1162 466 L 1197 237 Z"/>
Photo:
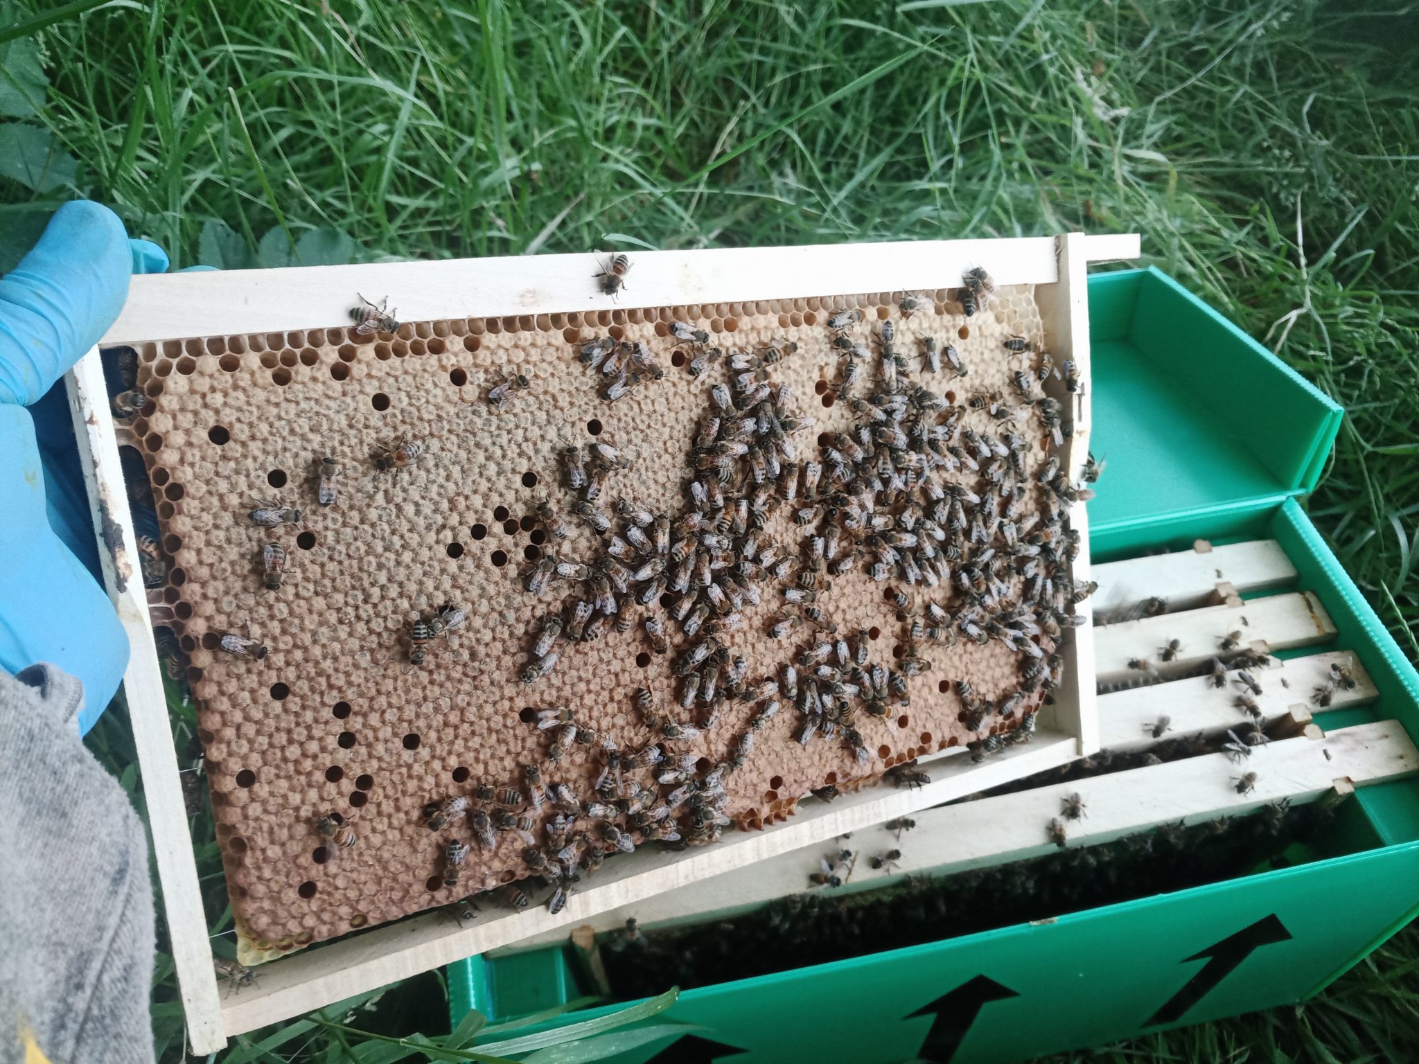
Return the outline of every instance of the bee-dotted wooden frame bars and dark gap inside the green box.
<path id="1" fill-rule="evenodd" d="M 1280 543 L 1198 541 L 1094 575 L 1111 621 L 1095 633 L 1098 753 L 602 912 L 573 938 L 585 989 L 630 999 L 751 977 L 1320 860 L 1372 838 L 1355 827 L 1364 813 L 1344 803 L 1357 789 L 1419 776 L 1419 749 L 1384 705 L 1375 712 L 1375 684 L 1354 651 L 1334 647 L 1335 626 L 1317 594 L 1297 589 Z M 1345 810 L 1344 830 L 1331 830 Z M 590 932 L 603 935 L 599 955 Z M 565 938 L 548 932 L 502 952 Z"/>

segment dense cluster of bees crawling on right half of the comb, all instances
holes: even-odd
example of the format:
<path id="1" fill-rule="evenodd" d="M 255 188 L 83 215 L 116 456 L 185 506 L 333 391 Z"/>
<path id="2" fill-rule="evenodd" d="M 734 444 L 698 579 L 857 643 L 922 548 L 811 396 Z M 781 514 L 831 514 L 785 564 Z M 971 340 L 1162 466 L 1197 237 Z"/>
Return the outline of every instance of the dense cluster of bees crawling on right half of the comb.
<path id="1" fill-rule="evenodd" d="M 607 294 L 622 288 L 629 265 L 619 255 L 597 275 Z M 972 312 L 992 294 L 983 271 L 964 277 L 961 299 Z M 922 305 L 921 297 L 905 295 L 898 309 L 910 318 Z M 1042 643 L 1057 641 L 1064 627 L 1077 624 L 1070 606 L 1093 592 L 1067 575 L 1078 533 L 1069 528 L 1066 509 L 1088 498 L 1088 489 L 1073 484 L 1057 458 L 1037 474 L 1026 470 L 1030 440 L 1053 437 L 1059 444 L 1069 428 L 1060 404 L 1040 386 L 1053 373 L 1077 389 L 1074 369 L 1066 363 L 1056 370 L 1039 345 L 1012 338 L 1006 355 L 1027 363 L 1013 375 L 1012 394 L 975 394 L 966 406 L 954 406 L 914 380 L 918 370 L 965 377 L 952 345 L 924 338 L 920 352 L 908 353 L 897 346 L 891 322 L 881 322 L 864 342 L 854 338 L 861 321 L 857 309 L 827 318 L 840 358 L 836 390 L 851 404 L 854 424 L 820 440 L 815 454 L 800 453 L 795 441 L 812 421 L 797 413 L 789 386 L 772 379 L 772 366 L 796 345 L 725 352 L 711 346 L 704 331 L 671 325 L 684 356 L 677 365 L 697 377 L 722 362 L 728 376 L 707 389 L 678 516 L 627 498 L 610 501 L 613 478 L 630 468 L 614 444 L 561 448 L 568 515 L 548 499 L 538 502 L 548 539 L 525 586 L 532 594 L 562 584 L 569 590 L 539 621 L 521 678 L 531 687 L 549 675 L 563 644 L 636 628 L 651 651 L 670 657 L 673 704 L 661 705 L 648 688 L 634 692 L 650 736 L 631 748 L 579 722 L 566 706 L 539 709 L 536 726 L 548 733 L 545 766 L 522 766 L 518 787 L 478 787 L 471 797 L 440 799 L 426 810 L 430 830 L 467 824 L 471 833 L 468 841 L 444 843 L 446 884 L 457 882 L 473 846 L 491 853 L 501 833 L 515 833 L 526 874 L 552 885 L 548 905 L 555 912 L 572 884 L 614 853 L 651 841 L 717 841 L 732 823 L 725 785 L 769 721 L 792 712 L 797 743 L 837 743 L 864 767 L 870 753 L 858 721 L 910 705 L 911 681 L 929 671 L 929 644 L 999 641 L 1016 654 L 1019 684 L 1005 697 L 981 698 L 965 680 L 955 691 L 969 729 L 981 733 L 969 743 L 973 759 L 1029 741 L 1030 706 L 1057 687 L 1063 670 L 1059 654 Z M 599 336 L 579 342 L 576 353 L 603 382 L 599 392 L 607 401 L 663 376 L 644 343 Z M 504 401 L 505 393 L 490 393 L 494 406 Z M 995 431 L 966 424 L 968 410 L 989 416 Z M 563 555 L 569 521 L 597 536 L 585 560 Z M 904 653 L 893 664 L 873 660 L 866 630 L 839 633 L 820 604 L 832 580 L 853 572 L 895 584 L 893 603 L 908 619 Z M 765 634 L 790 645 L 772 674 L 751 677 L 728 637 L 746 631 L 745 614 L 766 602 L 778 610 Z M 424 643 L 410 634 L 412 653 Z M 701 759 L 687 748 L 718 726 L 731 702 L 753 711 L 725 755 L 697 767 Z M 543 785 L 543 767 L 555 769 L 576 749 L 599 765 L 592 793 L 562 782 Z M 898 786 L 929 782 L 915 763 L 887 775 Z M 836 787 L 813 793 L 830 800 Z M 877 857 L 884 867 L 895 865 L 900 853 Z M 824 875 L 841 878 L 836 871 Z M 505 899 L 517 908 L 528 904 L 517 885 L 505 888 Z"/>

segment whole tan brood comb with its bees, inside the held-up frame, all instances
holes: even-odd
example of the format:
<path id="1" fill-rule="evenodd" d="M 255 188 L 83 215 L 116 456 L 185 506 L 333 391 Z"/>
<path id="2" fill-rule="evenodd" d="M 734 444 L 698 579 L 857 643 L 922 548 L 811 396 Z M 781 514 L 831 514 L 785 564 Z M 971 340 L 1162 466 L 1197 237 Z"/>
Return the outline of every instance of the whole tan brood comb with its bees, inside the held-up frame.
<path id="1" fill-rule="evenodd" d="M 128 424 L 248 946 L 585 880 L 617 846 L 1027 738 L 1070 610 L 1069 406 L 1044 399 L 1067 393 L 1040 380 L 1032 288 L 958 299 L 142 345 Z M 260 525 L 265 505 L 299 519 Z M 531 678 L 542 633 L 556 661 Z"/>

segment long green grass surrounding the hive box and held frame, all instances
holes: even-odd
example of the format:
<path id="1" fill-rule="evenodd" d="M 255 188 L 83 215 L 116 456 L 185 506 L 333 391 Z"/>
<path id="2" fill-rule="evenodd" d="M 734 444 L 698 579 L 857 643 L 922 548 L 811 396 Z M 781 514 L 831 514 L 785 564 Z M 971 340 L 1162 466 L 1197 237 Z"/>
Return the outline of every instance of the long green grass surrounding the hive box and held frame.
<path id="1" fill-rule="evenodd" d="M 74 194 L 177 265 L 1138 230 L 1347 407 L 1311 512 L 1419 655 L 1416 28 L 1279 0 L 115 4 L 0 43 L 0 115 L 33 128 L 0 125 L 0 248 Z M 96 742 L 125 763 L 116 718 Z M 1416 965 L 1406 932 L 1317 1002 L 1100 1058 L 1415 1058 Z M 430 985 L 355 1026 L 441 1030 Z M 350 1058 L 322 1031 L 263 1058 Z"/>

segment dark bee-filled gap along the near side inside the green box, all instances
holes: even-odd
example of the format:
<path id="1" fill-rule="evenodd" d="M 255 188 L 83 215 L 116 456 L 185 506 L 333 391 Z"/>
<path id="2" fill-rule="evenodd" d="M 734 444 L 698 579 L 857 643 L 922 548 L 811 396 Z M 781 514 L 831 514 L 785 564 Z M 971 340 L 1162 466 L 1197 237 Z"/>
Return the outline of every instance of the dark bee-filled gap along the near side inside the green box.
<path id="1" fill-rule="evenodd" d="M 715 986 L 1244 875 L 1313 838 L 1332 819 L 1334 810 L 1323 803 L 1283 802 L 1247 816 L 1164 824 L 1025 861 L 944 877 L 908 875 L 861 892 L 790 894 L 692 925 L 630 925 L 600 935 L 599 952 L 617 1000 L 667 986 Z M 841 868 L 837 854 L 824 860 Z M 866 854 L 858 860 L 857 877 L 867 860 Z"/>

